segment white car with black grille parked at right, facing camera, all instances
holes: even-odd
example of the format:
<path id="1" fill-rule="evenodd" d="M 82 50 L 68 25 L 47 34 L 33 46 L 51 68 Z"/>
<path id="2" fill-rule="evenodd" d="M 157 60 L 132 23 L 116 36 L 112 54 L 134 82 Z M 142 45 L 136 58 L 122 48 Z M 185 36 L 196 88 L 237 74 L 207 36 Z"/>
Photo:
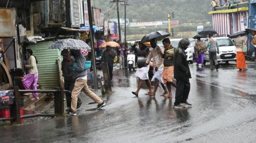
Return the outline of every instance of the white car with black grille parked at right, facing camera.
<path id="1" fill-rule="evenodd" d="M 215 37 L 219 45 L 219 54 L 217 53 L 217 60 L 225 61 L 236 61 L 237 51 L 234 42 L 228 37 Z M 209 52 L 204 53 L 204 61 L 209 61 Z"/>

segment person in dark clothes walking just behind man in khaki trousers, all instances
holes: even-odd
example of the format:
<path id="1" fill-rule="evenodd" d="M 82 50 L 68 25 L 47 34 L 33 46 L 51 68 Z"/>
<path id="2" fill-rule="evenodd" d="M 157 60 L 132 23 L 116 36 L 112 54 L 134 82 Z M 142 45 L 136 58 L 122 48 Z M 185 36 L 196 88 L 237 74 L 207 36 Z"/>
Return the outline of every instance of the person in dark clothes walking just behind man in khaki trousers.
<path id="1" fill-rule="evenodd" d="M 61 62 L 61 70 L 62 76 L 64 77 L 64 89 L 72 92 L 74 88 L 74 79 L 72 78 L 73 71 L 71 66 L 69 66 L 69 62 L 74 63 L 74 58 L 69 56 L 69 51 L 64 49 L 61 51 L 61 56 L 63 57 L 63 61 Z M 68 109 L 66 111 L 71 110 L 71 93 L 66 93 L 66 102 Z M 77 98 L 77 109 L 80 108 L 82 104 L 81 99 Z"/>

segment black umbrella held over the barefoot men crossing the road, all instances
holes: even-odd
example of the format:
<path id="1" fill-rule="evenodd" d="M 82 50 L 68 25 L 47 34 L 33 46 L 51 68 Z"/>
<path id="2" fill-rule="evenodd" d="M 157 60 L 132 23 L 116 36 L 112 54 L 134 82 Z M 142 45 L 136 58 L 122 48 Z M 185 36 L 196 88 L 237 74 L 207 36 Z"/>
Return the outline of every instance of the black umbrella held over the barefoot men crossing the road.
<path id="1" fill-rule="evenodd" d="M 156 39 L 157 41 L 164 39 L 165 37 L 170 36 L 170 33 L 167 31 L 156 31 L 146 34 L 140 42 L 149 42 L 151 39 Z"/>

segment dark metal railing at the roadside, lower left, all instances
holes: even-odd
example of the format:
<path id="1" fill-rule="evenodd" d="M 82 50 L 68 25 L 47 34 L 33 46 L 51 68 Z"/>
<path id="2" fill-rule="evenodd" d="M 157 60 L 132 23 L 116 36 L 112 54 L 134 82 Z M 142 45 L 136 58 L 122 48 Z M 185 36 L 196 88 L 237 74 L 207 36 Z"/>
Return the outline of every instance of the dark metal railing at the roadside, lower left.
<path id="1" fill-rule="evenodd" d="M 19 93 L 54 93 L 54 114 L 30 114 L 20 116 L 19 112 Z M 11 105 L 11 117 L 0 118 L 0 121 L 11 120 L 12 123 L 20 124 L 20 119 L 32 117 L 56 117 L 64 114 L 64 93 L 70 93 L 64 90 L 63 87 L 56 87 L 55 90 L 19 90 L 19 87 L 14 87 L 14 104 Z"/>

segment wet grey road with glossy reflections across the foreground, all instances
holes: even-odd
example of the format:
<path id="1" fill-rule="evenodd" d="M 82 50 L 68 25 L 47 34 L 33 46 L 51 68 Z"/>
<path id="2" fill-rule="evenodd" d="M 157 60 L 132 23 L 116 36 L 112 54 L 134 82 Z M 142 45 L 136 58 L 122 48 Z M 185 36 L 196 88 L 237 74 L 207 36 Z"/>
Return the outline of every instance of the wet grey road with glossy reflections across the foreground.
<path id="1" fill-rule="evenodd" d="M 218 71 L 190 65 L 188 101 L 192 108 L 173 109 L 173 99 L 139 97 L 134 74 L 116 70 L 114 93 L 98 111 L 20 126 L 0 127 L 0 142 L 140 142 L 255 143 L 256 71 L 238 72 L 223 64 Z M 172 89 L 175 95 L 175 89 Z M 85 99 L 86 100 L 86 99 Z M 86 102 L 86 101 L 84 101 Z"/>

